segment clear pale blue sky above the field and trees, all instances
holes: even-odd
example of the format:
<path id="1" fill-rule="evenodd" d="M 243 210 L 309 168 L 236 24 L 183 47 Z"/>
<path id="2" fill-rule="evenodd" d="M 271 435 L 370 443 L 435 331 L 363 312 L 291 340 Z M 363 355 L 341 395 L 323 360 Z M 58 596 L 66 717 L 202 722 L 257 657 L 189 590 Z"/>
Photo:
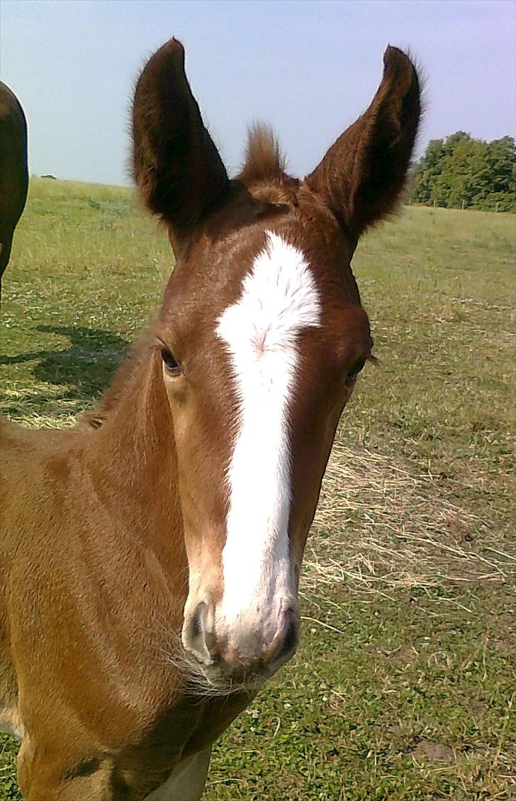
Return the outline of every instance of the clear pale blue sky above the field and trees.
<path id="1" fill-rule="evenodd" d="M 370 102 L 387 43 L 426 72 L 428 139 L 514 136 L 513 0 L 2 0 L 0 73 L 30 127 L 35 175 L 126 183 L 127 109 L 145 59 L 186 46 L 230 171 L 265 119 L 304 175 Z"/>

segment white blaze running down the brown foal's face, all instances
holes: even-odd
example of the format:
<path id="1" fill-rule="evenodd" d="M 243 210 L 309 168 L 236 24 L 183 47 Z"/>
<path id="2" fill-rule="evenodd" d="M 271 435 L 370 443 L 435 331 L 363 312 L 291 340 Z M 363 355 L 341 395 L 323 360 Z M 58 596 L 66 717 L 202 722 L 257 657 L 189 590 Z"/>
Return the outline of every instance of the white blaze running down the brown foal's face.
<path id="1" fill-rule="evenodd" d="M 270 644 L 278 616 L 296 607 L 290 570 L 289 407 L 299 363 L 298 334 L 318 326 L 318 289 L 302 252 L 267 232 L 218 320 L 238 392 L 239 417 L 228 470 L 230 504 L 222 551 L 224 592 L 215 626 L 234 648 L 250 634 Z M 246 643 L 247 639 L 247 643 Z"/>

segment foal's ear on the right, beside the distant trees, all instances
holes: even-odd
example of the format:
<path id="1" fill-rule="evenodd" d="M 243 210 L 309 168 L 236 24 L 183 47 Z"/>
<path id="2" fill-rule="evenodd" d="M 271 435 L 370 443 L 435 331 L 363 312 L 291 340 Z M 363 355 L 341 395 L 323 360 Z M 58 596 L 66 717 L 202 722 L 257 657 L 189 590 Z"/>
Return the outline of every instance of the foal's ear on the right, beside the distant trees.
<path id="1" fill-rule="evenodd" d="M 354 239 L 397 202 L 421 113 L 418 74 L 410 58 L 387 47 L 383 63 L 382 83 L 370 107 L 306 178 Z"/>

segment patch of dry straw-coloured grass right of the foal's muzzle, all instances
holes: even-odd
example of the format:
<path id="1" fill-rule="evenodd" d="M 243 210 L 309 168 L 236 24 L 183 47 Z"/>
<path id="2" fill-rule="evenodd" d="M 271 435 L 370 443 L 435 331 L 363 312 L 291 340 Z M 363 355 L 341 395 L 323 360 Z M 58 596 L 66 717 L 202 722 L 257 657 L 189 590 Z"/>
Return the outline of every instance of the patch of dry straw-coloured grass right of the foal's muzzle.
<path id="1" fill-rule="evenodd" d="M 304 564 L 302 590 L 319 597 L 325 586 L 366 599 L 516 579 L 516 550 L 500 549 L 499 533 L 447 500 L 431 473 L 411 475 L 392 457 L 338 440 Z"/>

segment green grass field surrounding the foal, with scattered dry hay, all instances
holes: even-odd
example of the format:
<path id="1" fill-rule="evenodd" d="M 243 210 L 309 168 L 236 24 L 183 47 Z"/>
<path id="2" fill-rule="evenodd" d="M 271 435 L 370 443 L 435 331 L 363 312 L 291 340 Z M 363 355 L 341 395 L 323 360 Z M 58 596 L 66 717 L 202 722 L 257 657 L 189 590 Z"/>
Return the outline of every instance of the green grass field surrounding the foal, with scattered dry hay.
<path id="1" fill-rule="evenodd" d="M 514 238 L 514 216 L 410 207 L 359 245 L 380 366 L 326 473 L 302 646 L 218 743 L 207 801 L 514 798 Z M 34 179 L 4 284 L 2 413 L 71 425 L 171 263 L 130 190 Z M 18 799 L 0 738 L 0 799 Z"/>

